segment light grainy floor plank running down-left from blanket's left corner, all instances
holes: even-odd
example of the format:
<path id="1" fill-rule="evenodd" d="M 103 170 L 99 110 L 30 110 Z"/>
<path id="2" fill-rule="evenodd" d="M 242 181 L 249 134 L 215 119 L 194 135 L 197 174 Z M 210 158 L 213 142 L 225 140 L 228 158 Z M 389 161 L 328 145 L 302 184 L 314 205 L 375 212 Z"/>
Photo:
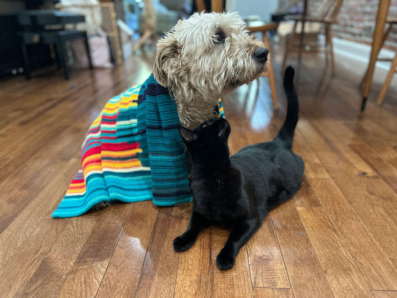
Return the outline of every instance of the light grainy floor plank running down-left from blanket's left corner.
<path id="1" fill-rule="evenodd" d="M 93 214 L 71 218 L 70 220 L 57 220 L 56 222 L 66 221 L 68 224 L 58 236 L 32 278 L 15 296 L 58 297 L 66 276 L 98 220 L 99 217 Z M 49 221 L 54 222 L 54 220 Z"/>

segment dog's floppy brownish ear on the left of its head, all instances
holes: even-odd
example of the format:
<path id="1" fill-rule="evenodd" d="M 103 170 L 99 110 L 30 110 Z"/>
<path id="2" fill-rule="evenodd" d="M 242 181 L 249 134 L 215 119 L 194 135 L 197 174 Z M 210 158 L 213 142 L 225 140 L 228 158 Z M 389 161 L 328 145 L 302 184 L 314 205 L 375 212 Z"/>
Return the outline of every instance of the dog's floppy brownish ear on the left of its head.
<path id="1" fill-rule="evenodd" d="M 175 69 L 180 69 L 179 56 L 182 52 L 182 45 L 173 38 L 172 34 L 166 35 L 157 43 L 156 60 L 154 62 L 153 74 L 157 82 L 168 86 L 170 73 Z"/>

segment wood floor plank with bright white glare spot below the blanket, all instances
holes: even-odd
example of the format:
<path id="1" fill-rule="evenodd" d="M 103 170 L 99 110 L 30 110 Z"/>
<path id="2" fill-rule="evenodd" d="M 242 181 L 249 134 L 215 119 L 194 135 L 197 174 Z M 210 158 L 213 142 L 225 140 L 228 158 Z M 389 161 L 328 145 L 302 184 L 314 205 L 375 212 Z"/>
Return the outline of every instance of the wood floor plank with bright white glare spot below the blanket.
<path id="1" fill-rule="evenodd" d="M 132 203 L 96 297 L 134 296 L 157 214 L 158 207 L 150 201 Z"/>

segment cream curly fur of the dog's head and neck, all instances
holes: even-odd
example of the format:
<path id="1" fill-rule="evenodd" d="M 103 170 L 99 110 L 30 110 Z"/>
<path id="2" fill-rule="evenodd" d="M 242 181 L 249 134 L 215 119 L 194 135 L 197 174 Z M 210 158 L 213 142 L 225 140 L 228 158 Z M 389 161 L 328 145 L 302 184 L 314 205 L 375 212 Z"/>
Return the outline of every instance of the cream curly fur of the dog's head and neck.
<path id="1" fill-rule="evenodd" d="M 175 98 L 181 125 L 194 129 L 212 117 L 223 94 L 267 70 L 237 13 L 195 13 L 157 44 L 153 74 Z"/>

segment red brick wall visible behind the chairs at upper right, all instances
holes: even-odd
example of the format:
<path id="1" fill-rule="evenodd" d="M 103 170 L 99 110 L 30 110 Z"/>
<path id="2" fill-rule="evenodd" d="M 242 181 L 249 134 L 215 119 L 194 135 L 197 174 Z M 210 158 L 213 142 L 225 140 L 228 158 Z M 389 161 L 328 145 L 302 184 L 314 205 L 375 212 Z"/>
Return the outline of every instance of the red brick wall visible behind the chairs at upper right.
<path id="1" fill-rule="evenodd" d="M 315 15 L 323 0 L 309 0 L 310 14 Z M 336 37 L 372 43 L 379 0 L 344 0 L 339 10 L 338 22 L 333 25 Z M 397 0 L 391 0 L 389 16 L 397 17 Z M 385 48 L 397 51 L 397 24 L 389 33 Z"/>

